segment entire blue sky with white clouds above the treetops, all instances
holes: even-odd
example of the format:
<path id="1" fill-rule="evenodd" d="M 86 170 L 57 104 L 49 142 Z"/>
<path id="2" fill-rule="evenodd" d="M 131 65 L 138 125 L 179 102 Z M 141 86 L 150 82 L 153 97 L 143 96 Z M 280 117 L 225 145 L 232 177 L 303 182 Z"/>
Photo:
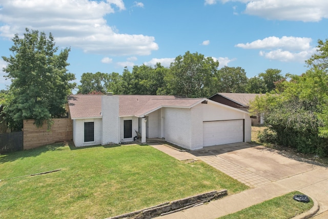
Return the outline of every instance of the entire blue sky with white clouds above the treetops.
<path id="1" fill-rule="evenodd" d="M 125 66 L 169 67 L 178 55 L 198 52 L 248 77 L 268 68 L 301 74 L 304 61 L 328 38 L 326 0 L 0 0 L 0 55 L 25 28 L 51 32 L 70 47 L 68 70 L 118 72 Z M 0 59 L 0 90 L 6 89 Z"/>

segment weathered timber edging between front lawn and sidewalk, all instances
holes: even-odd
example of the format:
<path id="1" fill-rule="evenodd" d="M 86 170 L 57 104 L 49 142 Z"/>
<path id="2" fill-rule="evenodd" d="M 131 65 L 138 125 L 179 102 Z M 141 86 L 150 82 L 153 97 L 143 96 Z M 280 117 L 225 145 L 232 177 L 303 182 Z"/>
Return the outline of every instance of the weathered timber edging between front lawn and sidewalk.
<path id="1" fill-rule="evenodd" d="M 114 217 L 108 217 L 106 219 L 149 219 L 156 216 L 166 215 L 187 208 L 195 207 L 197 205 L 216 200 L 226 195 L 228 195 L 227 189 L 221 191 L 211 191 L 187 198 L 182 198 L 173 202 L 162 203 L 143 210 L 121 214 Z"/>

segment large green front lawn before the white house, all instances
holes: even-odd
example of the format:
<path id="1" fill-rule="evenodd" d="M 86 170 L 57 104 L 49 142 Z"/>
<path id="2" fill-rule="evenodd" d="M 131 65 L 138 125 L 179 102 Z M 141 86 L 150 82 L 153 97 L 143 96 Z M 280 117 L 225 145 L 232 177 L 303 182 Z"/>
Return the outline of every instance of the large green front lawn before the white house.
<path id="1" fill-rule="evenodd" d="M 106 218 L 207 191 L 248 188 L 203 162 L 180 162 L 140 145 L 48 145 L 0 155 L 0 169 L 0 218 Z"/>

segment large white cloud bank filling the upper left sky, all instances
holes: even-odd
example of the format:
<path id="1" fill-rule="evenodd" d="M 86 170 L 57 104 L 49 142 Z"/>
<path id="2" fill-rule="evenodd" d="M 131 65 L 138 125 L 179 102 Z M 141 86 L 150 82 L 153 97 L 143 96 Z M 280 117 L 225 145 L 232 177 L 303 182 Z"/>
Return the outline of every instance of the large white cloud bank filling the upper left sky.
<path id="1" fill-rule="evenodd" d="M 125 10 L 122 0 L 3 0 L 0 36 L 21 35 L 25 27 L 51 32 L 56 45 L 107 55 L 149 55 L 158 49 L 153 36 L 118 33 L 104 16 Z M 114 6 L 115 9 L 112 7 Z"/>

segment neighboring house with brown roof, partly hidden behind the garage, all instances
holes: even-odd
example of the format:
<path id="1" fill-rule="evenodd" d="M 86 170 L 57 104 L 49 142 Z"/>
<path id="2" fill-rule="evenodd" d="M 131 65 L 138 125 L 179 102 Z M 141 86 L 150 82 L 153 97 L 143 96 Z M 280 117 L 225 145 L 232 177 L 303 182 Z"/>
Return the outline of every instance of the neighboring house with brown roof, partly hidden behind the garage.
<path id="1" fill-rule="evenodd" d="M 248 111 L 250 107 L 250 102 L 254 101 L 255 97 L 258 95 L 264 95 L 259 93 L 216 93 L 209 97 L 212 101 L 225 104 L 237 109 Z M 263 116 L 251 116 L 252 125 L 263 124 Z"/>

